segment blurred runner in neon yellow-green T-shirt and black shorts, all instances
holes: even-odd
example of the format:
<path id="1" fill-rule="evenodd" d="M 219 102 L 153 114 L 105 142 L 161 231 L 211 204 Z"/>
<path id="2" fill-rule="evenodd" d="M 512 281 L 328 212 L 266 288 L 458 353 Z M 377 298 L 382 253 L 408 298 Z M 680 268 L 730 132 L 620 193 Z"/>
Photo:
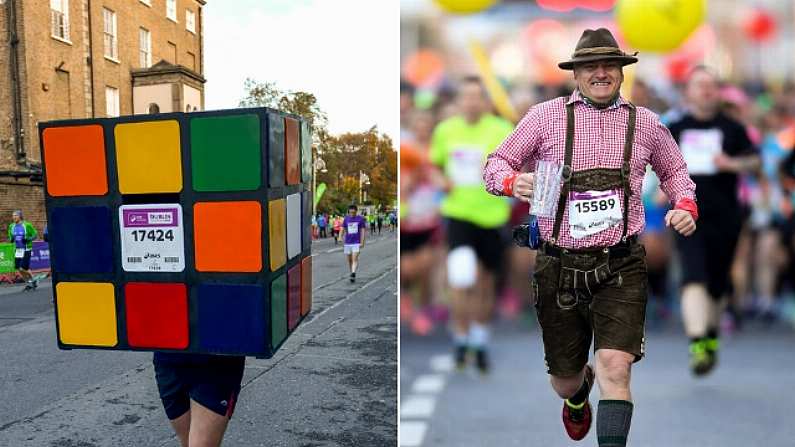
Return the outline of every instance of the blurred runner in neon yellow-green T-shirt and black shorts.
<path id="1" fill-rule="evenodd" d="M 504 247 L 500 228 L 508 222 L 510 204 L 506 198 L 486 192 L 483 166 L 486 156 L 513 126 L 487 112 L 486 91 L 476 77 L 463 80 L 456 101 L 459 114 L 434 130 L 430 158 L 443 170 L 450 186 L 441 212 L 448 219 L 447 274 L 453 298 L 456 366 L 465 366 L 471 349 L 477 368 L 486 373 L 488 322 Z"/>

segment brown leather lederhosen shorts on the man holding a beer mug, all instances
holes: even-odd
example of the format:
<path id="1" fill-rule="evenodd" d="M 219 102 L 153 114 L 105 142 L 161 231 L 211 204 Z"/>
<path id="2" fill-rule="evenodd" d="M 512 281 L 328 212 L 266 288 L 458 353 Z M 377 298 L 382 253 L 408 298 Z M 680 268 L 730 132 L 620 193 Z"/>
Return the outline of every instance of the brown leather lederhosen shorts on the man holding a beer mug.
<path id="1" fill-rule="evenodd" d="M 549 374 L 582 371 L 592 340 L 594 351 L 616 349 L 636 362 L 643 358 L 648 298 L 643 245 L 631 245 L 620 257 L 599 250 L 564 261 L 539 250 L 533 288 Z"/>

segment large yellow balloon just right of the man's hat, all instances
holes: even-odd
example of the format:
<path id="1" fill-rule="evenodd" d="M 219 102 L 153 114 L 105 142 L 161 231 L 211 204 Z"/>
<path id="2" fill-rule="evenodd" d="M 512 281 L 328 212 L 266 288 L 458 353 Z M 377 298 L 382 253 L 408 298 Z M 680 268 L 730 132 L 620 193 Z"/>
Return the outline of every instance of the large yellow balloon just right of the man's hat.
<path id="1" fill-rule="evenodd" d="M 704 0 L 620 0 L 616 21 L 635 49 L 668 52 L 704 21 Z"/>

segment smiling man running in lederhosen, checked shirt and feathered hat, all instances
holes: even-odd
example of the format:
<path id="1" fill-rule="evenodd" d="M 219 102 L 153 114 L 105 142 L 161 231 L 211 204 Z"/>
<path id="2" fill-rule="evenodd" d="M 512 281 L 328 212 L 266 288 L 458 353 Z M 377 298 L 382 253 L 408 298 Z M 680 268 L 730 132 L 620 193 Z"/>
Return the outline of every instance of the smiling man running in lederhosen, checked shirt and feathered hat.
<path id="1" fill-rule="evenodd" d="M 489 192 L 529 201 L 534 174 L 519 173 L 521 167 L 538 160 L 563 166 L 555 216 L 538 220 L 536 310 L 552 388 L 565 399 L 566 432 L 575 440 L 588 433 L 596 379 L 602 447 L 626 445 L 630 370 L 644 354 L 648 279 L 637 235 L 647 164 L 673 205 L 666 225 L 688 236 L 698 217 L 695 185 L 670 132 L 653 112 L 619 95 L 622 67 L 637 60 L 607 29 L 586 30 L 572 59 L 558 64 L 574 70 L 577 89 L 533 107 L 484 171 Z"/>

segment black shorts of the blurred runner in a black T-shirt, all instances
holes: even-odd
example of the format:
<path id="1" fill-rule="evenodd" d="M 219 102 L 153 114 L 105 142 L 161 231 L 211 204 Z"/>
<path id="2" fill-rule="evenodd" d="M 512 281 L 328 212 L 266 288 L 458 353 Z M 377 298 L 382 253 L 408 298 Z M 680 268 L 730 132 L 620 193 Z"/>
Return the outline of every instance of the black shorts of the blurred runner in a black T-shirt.
<path id="1" fill-rule="evenodd" d="M 689 237 L 676 233 L 676 248 L 682 264 L 682 285 L 703 283 L 713 299 L 719 300 L 731 289 L 731 266 L 742 221 L 734 218 L 704 217 L 696 222 Z"/>

